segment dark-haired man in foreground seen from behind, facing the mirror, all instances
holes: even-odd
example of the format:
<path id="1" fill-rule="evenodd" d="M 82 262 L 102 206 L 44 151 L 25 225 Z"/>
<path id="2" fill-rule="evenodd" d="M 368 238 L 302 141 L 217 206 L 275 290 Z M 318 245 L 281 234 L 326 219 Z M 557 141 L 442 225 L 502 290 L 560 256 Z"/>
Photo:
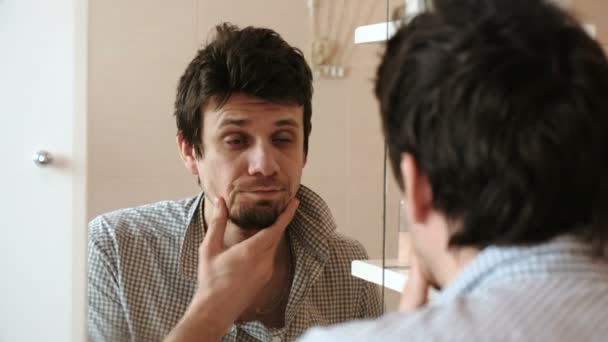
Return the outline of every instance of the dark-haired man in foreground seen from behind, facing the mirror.
<path id="1" fill-rule="evenodd" d="M 303 340 L 606 341 L 598 43 L 545 1 L 436 1 L 377 76 L 414 250 L 404 312 Z"/>

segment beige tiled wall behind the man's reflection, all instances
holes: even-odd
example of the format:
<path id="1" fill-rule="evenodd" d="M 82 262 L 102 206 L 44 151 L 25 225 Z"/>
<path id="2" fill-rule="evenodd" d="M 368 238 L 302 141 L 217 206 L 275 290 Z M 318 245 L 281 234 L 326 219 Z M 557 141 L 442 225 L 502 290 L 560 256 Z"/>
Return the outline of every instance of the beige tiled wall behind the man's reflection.
<path id="1" fill-rule="evenodd" d="M 383 0 L 334 4 L 333 19 L 325 12 L 321 23 L 331 31 L 331 24 L 335 28 L 342 20 L 340 39 L 348 44 L 354 26 L 385 20 Z M 356 12 L 361 8 L 365 15 Z M 309 50 L 304 0 L 91 0 L 90 217 L 198 191 L 177 155 L 172 105 L 179 76 L 222 21 L 270 27 Z M 372 96 L 380 48 L 350 46 L 346 79 L 315 80 L 303 177 L 328 202 L 339 230 L 363 242 L 372 257 L 381 256 L 382 246 L 383 146 Z M 390 202 L 391 232 L 396 231 L 397 201 Z M 396 244 L 389 247 L 394 250 Z"/>

